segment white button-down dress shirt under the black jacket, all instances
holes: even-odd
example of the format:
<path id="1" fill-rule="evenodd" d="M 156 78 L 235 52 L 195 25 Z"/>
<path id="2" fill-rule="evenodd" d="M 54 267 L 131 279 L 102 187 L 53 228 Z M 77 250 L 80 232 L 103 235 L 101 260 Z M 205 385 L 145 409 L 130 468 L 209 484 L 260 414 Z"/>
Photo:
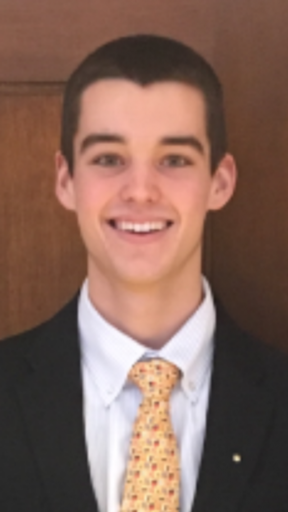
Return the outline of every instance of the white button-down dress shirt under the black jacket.
<path id="1" fill-rule="evenodd" d="M 141 358 L 160 357 L 182 372 L 170 398 L 171 421 L 181 462 L 181 512 L 190 512 L 200 465 L 210 389 L 215 309 L 205 298 L 181 329 L 158 351 L 147 349 L 110 325 L 88 297 L 85 281 L 78 306 L 84 424 L 90 474 L 100 512 L 119 512 L 129 441 L 141 391 L 127 381 Z"/>

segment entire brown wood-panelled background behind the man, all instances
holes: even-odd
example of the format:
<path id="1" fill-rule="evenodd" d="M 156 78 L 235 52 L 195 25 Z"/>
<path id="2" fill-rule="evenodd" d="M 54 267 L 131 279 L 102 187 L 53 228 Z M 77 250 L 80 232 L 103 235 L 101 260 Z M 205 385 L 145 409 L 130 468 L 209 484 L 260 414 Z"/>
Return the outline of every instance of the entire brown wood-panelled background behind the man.
<path id="1" fill-rule="evenodd" d="M 206 271 L 238 323 L 288 350 L 287 23 L 286 0 L 2 0 L 0 337 L 56 311 L 85 273 L 54 199 L 58 82 L 105 40 L 156 32 L 200 50 L 226 91 L 239 182 L 209 221 Z"/>

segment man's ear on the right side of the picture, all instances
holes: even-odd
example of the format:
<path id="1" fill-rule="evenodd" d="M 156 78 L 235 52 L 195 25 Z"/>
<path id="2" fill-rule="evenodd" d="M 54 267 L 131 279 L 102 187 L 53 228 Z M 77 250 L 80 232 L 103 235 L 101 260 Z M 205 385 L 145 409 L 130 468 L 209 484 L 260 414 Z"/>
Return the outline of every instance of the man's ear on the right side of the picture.
<path id="1" fill-rule="evenodd" d="M 212 176 L 209 210 L 219 210 L 230 201 L 234 194 L 236 178 L 235 160 L 232 155 L 226 154 Z"/>

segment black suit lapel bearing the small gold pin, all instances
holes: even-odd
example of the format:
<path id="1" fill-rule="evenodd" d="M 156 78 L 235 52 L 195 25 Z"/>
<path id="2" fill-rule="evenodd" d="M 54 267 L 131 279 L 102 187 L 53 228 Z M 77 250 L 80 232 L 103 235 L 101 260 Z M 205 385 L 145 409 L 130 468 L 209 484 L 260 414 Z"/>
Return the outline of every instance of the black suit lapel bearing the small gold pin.
<path id="1" fill-rule="evenodd" d="M 219 314 L 206 439 L 193 512 L 235 512 L 257 471 L 273 421 L 253 341 Z M 255 350 L 255 355 L 254 354 Z"/>

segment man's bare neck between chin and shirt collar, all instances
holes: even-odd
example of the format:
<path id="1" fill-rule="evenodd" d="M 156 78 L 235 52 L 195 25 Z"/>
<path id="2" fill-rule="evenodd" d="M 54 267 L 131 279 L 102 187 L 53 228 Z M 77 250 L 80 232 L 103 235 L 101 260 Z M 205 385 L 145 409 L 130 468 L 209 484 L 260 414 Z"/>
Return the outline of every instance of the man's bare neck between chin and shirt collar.
<path id="1" fill-rule="evenodd" d="M 195 312 L 203 300 L 200 271 L 187 280 L 133 289 L 122 283 L 111 286 L 88 273 L 90 300 L 107 322 L 137 340 L 159 350 Z M 183 282 L 181 282 L 183 281 Z"/>

